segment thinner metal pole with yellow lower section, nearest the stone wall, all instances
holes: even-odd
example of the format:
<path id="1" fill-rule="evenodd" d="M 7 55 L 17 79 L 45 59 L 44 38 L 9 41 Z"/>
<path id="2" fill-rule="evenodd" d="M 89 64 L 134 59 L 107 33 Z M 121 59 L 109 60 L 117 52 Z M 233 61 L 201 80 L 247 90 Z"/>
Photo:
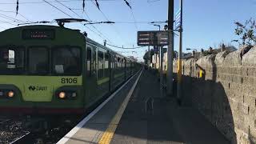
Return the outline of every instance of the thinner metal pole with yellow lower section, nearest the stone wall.
<path id="1" fill-rule="evenodd" d="M 181 105 L 182 98 L 182 0 L 181 5 L 181 26 L 179 30 L 179 50 L 178 50 L 178 86 L 177 86 L 177 98 L 178 104 Z"/>

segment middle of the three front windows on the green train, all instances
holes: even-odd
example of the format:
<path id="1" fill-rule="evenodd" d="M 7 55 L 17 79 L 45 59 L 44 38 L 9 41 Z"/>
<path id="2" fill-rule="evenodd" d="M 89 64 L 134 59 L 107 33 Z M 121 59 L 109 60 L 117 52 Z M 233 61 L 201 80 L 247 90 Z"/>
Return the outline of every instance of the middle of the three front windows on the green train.
<path id="1" fill-rule="evenodd" d="M 49 73 L 49 51 L 46 47 L 30 47 L 28 49 L 29 74 Z"/>

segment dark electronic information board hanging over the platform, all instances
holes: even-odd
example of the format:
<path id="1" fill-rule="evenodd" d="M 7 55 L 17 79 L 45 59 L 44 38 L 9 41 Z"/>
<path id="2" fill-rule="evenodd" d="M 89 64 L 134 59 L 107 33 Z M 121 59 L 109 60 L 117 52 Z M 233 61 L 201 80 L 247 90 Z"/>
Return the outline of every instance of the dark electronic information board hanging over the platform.
<path id="1" fill-rule="evenodd" d="M 138 46 L 167 46 L 169 45 L 168 31 L 138 31 Z"/>

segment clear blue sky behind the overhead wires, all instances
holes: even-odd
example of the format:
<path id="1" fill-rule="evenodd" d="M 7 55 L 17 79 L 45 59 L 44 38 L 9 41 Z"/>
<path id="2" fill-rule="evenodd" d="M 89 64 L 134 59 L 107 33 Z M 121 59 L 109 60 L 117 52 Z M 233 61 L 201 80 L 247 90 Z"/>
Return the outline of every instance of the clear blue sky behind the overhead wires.
<path id="1" fill-rule="evenodd" d="M 158 30 L 158 26 L 152 26 L 149 22 L 164 22 L 168 15 L 168 0 L 127 0 L 130 2 L 131 10 L 124 0 L 98 0 L 100 10 L 94 5 L 94 0 L 85 0 L 85 11 L 82 10 L 82 0 L 64 0 L 66 2 L 58 0 L 65 6 L 55 0 L 46 0 L 53 6 L 43 0 L 19 0 L 17 16 L 14 13 L 16 1 L 0 0 L 0 31 L 18 24 L 10 17 L 30 22 L 51 22 L 55 18 L 70 18 L 70 16 L 85 18 L 92 22 L 110 20 L 116 23 L 93 26 L 70 23 L 66 24 L 66 27 L 86 31 L 88 37 L 96 42 L 103 43 L 106 39 L 111 45 L 124 47 L 137 47 L 137 31 Z M 256 0 L 183 0 L 183 52 L 188 52 L 186 48 L 206 50 L 209 46 L 216 47 L 221 42 L 238 46 L 237 43 L 230 42 L 238 39 L 234 34 L 234 22 L 245 22 L 247 19 L 255 18 L 255 8 Z M 178 9 L 179 0 L 174 0 L 174 14 Z M 6 15 L 9 18 L 6 18 Z M 158 24 L 162 28 L 166 25 L 166 23 Z M 56 23 L 49 25 L 56 25 Z M 174 50 L 178 50 L 178 40 L 178 37 L 174 38 Z M 147 50 L 147 47 L 134 50 L 123 50 L 111 46 L 110 48 L 126 56 L 133 55 L 140 61 Z"/>

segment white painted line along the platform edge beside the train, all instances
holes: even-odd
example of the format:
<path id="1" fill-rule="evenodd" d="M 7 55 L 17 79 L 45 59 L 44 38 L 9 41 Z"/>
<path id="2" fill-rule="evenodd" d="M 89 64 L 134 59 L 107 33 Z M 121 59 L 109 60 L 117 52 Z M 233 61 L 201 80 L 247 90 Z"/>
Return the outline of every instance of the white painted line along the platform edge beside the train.
<path id="1" fill-rule="evenodd" d="M 142 74 L 142 71 L 143 71 L 143 70 L 141 70 L 141 74 Z M 139 71 L 138 71 L 138 72 L 139 72 Z M 118 90 L 116 90 L 113 94 L 111 94 L 109 98 L 107 98 L 104 102 L 102 102 L 102 104 L 101 104 L 100 106 L 98 106 L 94 111 L 92 111 L 90 114 L 88 114 L 86 118 L 83 118 L 82 121 L 79 122 L 77 126 L 74 126 L 74 128 L 73 128 L 72 130 L 70 130 L 70 132 L 69 132 L 68 134 L 66 134 L 62 139 L 60 139 L 56 144 L 64 144 L 64 143 L 66 143 L 70 138 L 72 138 L 72 137 L 74 136 L 74 134 L 76 134 L 76 133 L 78 132 L 78 130 L 80 130 L 80 129 L 82 128 L 82 126 L 84 126 L 84 125 L 86 124 L 86 122 L 88 122 L 88 121 L 90 120 L 90 118 L 92 118 L 95 114 L 97 114 L 98 111 L 101 110 L 102 107 L 105 106 L 106 103 L 109 102 L 110 99 L 112 99 L 112 98 L 115 96 L 115 94 L 118 94 L 118 92 L 119 92 L 120 90 L 122 90 L 122 88 L 123 88 L 124 86 L 126 86 L 126 84 L 127 84 L 128 82 L 130 82 L 130 80 L 131 80 L 132 78 L 134 78 L 134 77 L 138 74 L 138 72 L 137 72 L 136 74 L 134 74 L 134 76 L 131 77 L 126 83 L 124 83 Z M 138 78 L 140 77 L 141 74 L 139 74 Z"/>

